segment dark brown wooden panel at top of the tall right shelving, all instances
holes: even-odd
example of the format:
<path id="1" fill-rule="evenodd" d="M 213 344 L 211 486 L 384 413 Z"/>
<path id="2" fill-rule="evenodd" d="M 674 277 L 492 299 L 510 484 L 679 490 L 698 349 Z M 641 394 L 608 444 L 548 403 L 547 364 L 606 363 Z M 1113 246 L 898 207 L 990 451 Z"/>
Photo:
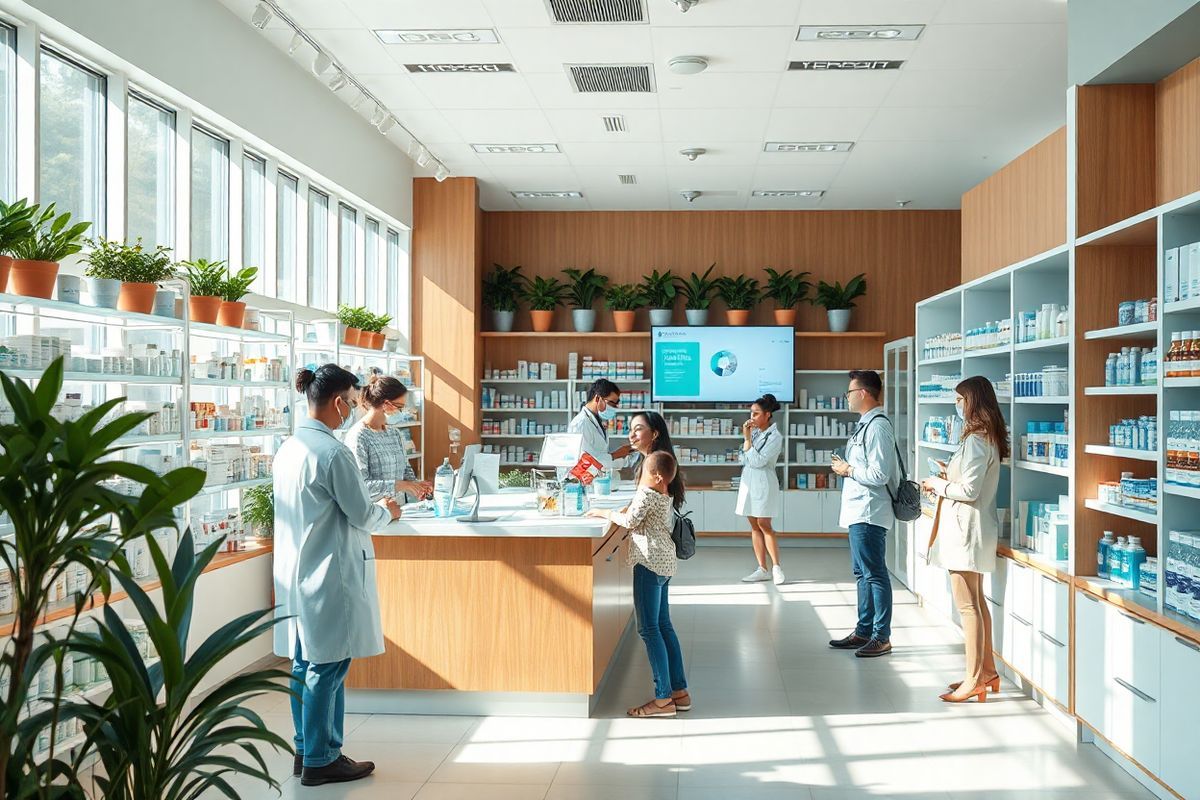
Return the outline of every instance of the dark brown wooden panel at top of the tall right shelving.
<path id="1" fill-rule="evenodd" d="M 1099 230 L 1156 205 L 1156 88 L 1079 86 L 1075 231 Z"/>

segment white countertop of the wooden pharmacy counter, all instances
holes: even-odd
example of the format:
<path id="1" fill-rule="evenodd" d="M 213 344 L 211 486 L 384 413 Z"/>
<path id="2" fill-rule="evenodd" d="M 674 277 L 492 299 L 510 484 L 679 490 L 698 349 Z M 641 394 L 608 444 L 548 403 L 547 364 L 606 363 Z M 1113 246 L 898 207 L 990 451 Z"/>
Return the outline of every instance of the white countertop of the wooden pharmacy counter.
<path id="1" fill-rule="evenodd" d="M 469 498 L 468 498 L 469 499 Z M 619 509 L 634 499 L 632 491 L 614 492 L 588 499 L 593 507 Z M 466 516 L 466 515 L 463 515 Z M 536 497 L 530 491 L 485 494 L 479 516 L 497 517 L 496 522 L 462 523 L 458 517 L 434 517 L 432 513 L 406 512 L 403 517 L 376 536 L 514 536 L 527 539 L 598 539 L 610 523 L 592 517 L 547 517 L 538 513 Z"/>

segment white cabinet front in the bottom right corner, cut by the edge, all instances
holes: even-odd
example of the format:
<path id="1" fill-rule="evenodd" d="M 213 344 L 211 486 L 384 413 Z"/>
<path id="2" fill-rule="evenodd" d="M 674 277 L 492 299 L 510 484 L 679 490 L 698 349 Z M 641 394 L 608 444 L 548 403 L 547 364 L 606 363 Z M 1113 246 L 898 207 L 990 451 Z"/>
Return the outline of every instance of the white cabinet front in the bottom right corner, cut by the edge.
<path id="1" fill-rule="evenodd" d="M 1159 776 L 1183 798 L 1200 798 L 1200 758 L 1196 720 L 1200 720 L 1200 644 L 1159 630 L 1163 663 L 1162 756 Z"/>

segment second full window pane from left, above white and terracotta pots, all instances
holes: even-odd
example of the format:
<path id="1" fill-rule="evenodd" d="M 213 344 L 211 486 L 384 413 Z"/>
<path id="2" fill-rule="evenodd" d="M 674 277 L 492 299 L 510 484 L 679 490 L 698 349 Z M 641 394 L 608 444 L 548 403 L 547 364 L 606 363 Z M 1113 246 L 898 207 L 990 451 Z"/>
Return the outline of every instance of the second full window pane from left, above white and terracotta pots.
<path id="1" fill-rule="evenodd" d="M 175 113 L 139 95 L 128 104 L 130 241 L 174 246 Z"/>

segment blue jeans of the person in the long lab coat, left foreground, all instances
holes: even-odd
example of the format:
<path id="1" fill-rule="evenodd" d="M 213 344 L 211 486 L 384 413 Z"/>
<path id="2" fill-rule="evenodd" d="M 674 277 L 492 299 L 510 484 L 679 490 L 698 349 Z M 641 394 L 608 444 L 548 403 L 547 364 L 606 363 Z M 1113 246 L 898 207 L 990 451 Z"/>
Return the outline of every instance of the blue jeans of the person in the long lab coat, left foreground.
<path id="1" fill-rule="evenodd" d="M 350 660 L 314 664 L 305 661 L 296 637 L 292 658 L 292 724 L 296 729 L 296 753 L 305 766 L 325 766 L 342 754 L 346 721 L 346 673 Z"/>

